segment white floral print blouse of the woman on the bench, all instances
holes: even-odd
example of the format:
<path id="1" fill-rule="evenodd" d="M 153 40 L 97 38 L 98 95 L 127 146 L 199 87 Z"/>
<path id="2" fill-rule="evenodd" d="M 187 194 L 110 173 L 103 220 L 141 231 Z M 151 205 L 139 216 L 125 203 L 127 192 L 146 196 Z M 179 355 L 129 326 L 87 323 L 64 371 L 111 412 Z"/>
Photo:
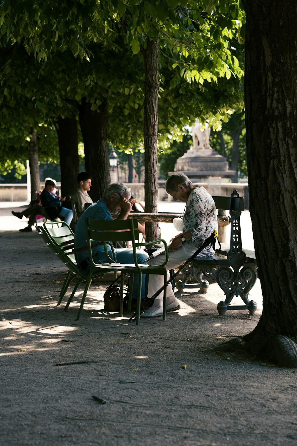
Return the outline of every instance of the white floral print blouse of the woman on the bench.
<path id="1" fill-rule="evenodd" d="M 216 205 L 204 187 L 197 187 L 191 191 L 183 215 L 183 225 L 183 232 L 191 231 L 193 235 L 185 243 L 194 244 L 197 248 L 212 235 L 215 229 L 218 230 Z M 215 251 L 212 248 L 204 248 L 200 256 L 212 257 L 214 254 Z"/>

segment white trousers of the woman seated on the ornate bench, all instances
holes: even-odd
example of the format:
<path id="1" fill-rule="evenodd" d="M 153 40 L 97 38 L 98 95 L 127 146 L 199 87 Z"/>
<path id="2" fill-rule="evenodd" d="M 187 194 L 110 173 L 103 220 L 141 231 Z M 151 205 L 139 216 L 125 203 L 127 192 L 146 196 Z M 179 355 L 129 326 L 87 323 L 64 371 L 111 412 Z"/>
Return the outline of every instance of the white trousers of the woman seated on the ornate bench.
<path id="1" fill-rule="evenodd" d="M 165 265 L 167 269 L 167 281 L 170 279 L 169 269 L 174 269 L 182 265 L 197 251 L 197 249 L 198 248 L 191 243 L 184 243 L 177 251 L 169 251 L 169 260 Z M 204 254 L 200 252 L 197 257 L 204 257 Z M 159 265 L 164 260 L 165 254 L 160 254 L 150 261 L 150 265 Z M 147 297 L 152 297 L 164 285 L 164 277 L 161 274 L 149 274 L 148 277 Z M 167 285 L 167 297 L 170 296 L 174 296 L 171 283 Z M 163 291 L 156 297 L 156 299 L 163 299 Z"/>

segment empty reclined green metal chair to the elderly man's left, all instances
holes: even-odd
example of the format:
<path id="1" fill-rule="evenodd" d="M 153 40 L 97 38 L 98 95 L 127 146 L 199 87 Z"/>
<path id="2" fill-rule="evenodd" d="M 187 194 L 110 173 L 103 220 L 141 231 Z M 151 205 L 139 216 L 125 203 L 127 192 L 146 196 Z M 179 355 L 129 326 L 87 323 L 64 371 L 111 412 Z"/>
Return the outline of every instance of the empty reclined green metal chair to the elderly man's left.
<path id="1" fill-rule="evenodd" d="M 73 291 L 71 293 L 71 296 L 69 297 L 69 300 L 65 306 L 64 310 L 67 310 L 69 307 L 70 302 L 73 299 L 74 294 L 77 291 L 78 286 L 82 282 L 87 282 L 85 285 L 84 290 L 84 300 L 86 293 L 88 292 L 88 289 L 90 288 L 91 282 L 94 278 L 102 276 L 102 274 L 105 273 L 105 271 L 99 271 L 98 269 L 93 269 L 89 274 L 83 273 L 79 268 L 77 268 L 77 264 L 75 261 L 75 257 L 73 252 L 73 242 L 74 242 L 74 234 L 71 231 L 70 227 L 67 225 L 67 223 L 63 221 L 59 222 L 45 222 L 43 226 L 37 226 L 37 231 L 41 235 L 42 239 L 44 240 L 45 244 L 49 247 L 49 249 L 57 256 L 59 260 L 61 260 L 62 263 L 66 265 L 66 267 L 69 269 L 65 281 L 63 283 L 60 295 L 59 295 L 59 301 L 57 303 L 57 306 L 61 304 L 61 301 L 63 300 L 63 297 L 65 296 L 65 293 L 67 289 L 69 288 L 69 285 L 74 279 L 77 279 L 77 282 L 73 288 Z M 83 303 L 81 304 L 82 309 Z M 81 310 L 80 310 L 81 312 Z M 80 315 L 79 312 L 79 315 Z M 79 315 L 77 316 L 77 319 L 79 318 Z"/>

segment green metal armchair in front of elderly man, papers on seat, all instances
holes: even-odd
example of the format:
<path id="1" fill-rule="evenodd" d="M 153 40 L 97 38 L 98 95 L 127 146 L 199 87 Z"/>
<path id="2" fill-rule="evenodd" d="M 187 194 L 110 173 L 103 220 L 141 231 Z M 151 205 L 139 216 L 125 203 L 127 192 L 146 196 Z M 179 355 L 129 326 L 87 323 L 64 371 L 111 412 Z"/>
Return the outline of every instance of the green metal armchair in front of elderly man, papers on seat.
<path id="1" fill-rule="evenodd" d="M 140 317 L 140 301 L 141 301 L 141 289 L 142 289 L 142 275 L 143 274 L 163 274 L 164 276 L 164 285 L 167 281 L 167 270 L 165 265 L 168 262 L 168 248 L 165 240 L 158 239 L 152 240 L 150 242 L 138 243 L 139 232 L 137 231 L 138 222 L 136 219 L 128 219 L 128 220 L 114 220 L 114 221 L 105 221 L 105 220 L 94 220 L 94 219 L 85 219 L 85 231 L 86 231 L 86 240 L 89 249 L 89 259 L 90 263 L 94 266 L 94 268 L 100 268 L 104 271 L 114 270 L 116 269 L 121 273 L 121 301 L 120 301 L 120 316 L 123 316 L 123 287 L 124 287 L 124 276 L 131 276 L 130 283 L 130 292 L 129 292 L 129 302 L 128 302 L 128 311 L 131 310 L 131 298 L 132 298 L 132 289 L 134 283 L 134 276 L 138 275 L 138 297 L 137 297 L 137 310 L 136 310 L 136 325 L 139 325 L 139 317 Z M 133 263 L 131 264 L 120 264 L 116 260 L 116 256 L 114 253 L 114 248 L 111 245 L 119 242 L 119 241 L 132 241 L 132 249 L 133 249 Z M 103 242 L 104 251 L 107 261 L 109 263 L 96 263 L 93 258 L 92 252 L 92 244 L 94 242 Z M 110 256 L 110 251 L 107 250 L 107 244 L 111 246 L 111 252 L 113 258 Z M 111 242 L 111 243 L 110 243 Z M 138 264 L 137 261 L 137 248 L 148 246 L 153 243 L 163 242 L 165 246 L 165 254 L 166 258 L 164 262 L 160 265 L 143 265 Z M 115 260 L 114 260 L 115 259 Z M 166 288 L 164 290 L 163 297 L 163 320 L 166 319 Z"/>

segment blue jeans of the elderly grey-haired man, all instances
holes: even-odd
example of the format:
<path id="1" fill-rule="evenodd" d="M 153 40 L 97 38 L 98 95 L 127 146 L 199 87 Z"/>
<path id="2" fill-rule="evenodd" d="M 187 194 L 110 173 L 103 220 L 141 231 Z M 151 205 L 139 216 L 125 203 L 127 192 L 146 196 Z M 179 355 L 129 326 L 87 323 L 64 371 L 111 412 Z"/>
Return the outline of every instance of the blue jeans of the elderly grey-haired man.
<path id="1" fill-rule="evenodd" d="M 122 249 L 114 249 L 114 253 L 117 258 L 118 263 L 128 263 L 128 264 L 134 264 L 133 260 L 133 249 L 131 248 L 122 248 Z M 109 252 L 110 257 L 112 257 L 112 252 Z M 137 261 L 139 264 L 146 264 L 146 259 L 148 258 L 148 254 L 145 251 L 142 251 L 142 249 L 137 250 Z M 106 261 L 106 256 L 104 251 L 98 252 L 96 256 L 94 256 L 94 262 L 99 263 L 100 260 Z M 90 266 L 88 267 L 87 272 L 90 272 Z M 90 268 L 90 269 L 89 269 Z M 142 275 L 142 289 L 141 289 L 141 298 L 144 299 L 146 292 L 146 275 Z M 132 290 L 132 298 L 137 299 L 138 296 L 138 274 L 135 274 L 134 276 L 134 284 L 133 284 L 133 290 Z"/>

